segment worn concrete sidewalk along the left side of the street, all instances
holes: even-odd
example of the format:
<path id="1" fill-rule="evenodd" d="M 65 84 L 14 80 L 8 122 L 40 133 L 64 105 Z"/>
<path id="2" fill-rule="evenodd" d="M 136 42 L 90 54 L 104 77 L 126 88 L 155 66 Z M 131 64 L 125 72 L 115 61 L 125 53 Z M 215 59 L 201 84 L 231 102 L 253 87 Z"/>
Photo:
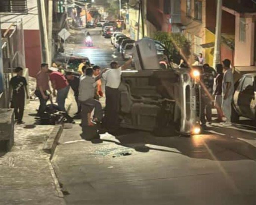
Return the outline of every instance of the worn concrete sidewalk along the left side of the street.
<path id="1" fill-rule="evenodd" d="M 25 107 L 24 125 L 15 125 L 14 146 L 0 153 L 1 205 L 64 205 L 44 143 L 55 126 L 36 125 L 38 101 Z"/>

